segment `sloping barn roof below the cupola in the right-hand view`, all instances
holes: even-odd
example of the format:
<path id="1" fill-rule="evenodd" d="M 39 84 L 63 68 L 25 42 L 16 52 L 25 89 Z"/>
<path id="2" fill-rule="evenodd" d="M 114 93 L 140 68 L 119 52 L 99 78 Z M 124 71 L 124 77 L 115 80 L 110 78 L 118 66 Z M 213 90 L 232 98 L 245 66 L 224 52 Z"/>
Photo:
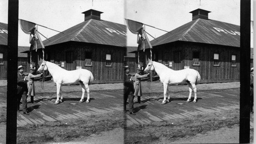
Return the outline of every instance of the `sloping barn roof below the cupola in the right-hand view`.
<path id="1" fill-rule="evenodd" d="M 240 47 L 240 26 L 198 18 L 156 39 L 151 41 L 152 46 L 175 41 L 189 41 Z M 148 44 L 146 48 L 149 48 Z"/>

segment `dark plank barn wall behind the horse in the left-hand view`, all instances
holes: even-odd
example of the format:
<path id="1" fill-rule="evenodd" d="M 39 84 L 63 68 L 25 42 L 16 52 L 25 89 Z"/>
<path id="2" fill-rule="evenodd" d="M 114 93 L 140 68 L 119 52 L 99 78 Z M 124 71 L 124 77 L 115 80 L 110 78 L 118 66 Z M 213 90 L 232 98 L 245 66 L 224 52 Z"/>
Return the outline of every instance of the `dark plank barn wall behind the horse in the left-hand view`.
<path id="1" fill-rule="evenodd" d="M 49 47 L 50 59 L 52 62 L 56 60 L 56 54 L 61 53 L 61 62 L 65 62 L 67 69 L 66 54 L 73 51 L 73 67 L 76 66 L 88 69 L 94 76 L 93 83 L 120 83 L 123 82 L 123 56 L 125 55 L 125 47 L 117 47 L 111 45 L 91 44 L 91 43 L 75 43 L 70 42 L 65 45 L 55 45 L 54 49 Z M 92 52 L 92 66 L 85 66 L 84 53 Z M 106 66 L 106 54 L 111 54 L 112 66 Z"/>

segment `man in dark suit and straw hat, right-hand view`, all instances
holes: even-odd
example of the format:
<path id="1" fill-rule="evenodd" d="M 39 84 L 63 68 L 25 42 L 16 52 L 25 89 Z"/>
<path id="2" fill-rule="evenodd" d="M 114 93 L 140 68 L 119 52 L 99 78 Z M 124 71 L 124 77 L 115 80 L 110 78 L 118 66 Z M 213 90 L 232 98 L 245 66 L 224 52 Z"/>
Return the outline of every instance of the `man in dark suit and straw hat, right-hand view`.
<path id="1" fill-rule="evenodd" d="M 134 107 L 133 107 L 133 93 L 134 93 L 134 87 L 133 87 L 133 79 L 132 79 L 132 75 L 130 75 L 130 67 L 129 66 L 125 66 L 124 67 L 124 111 L 126 111 L 126 103 L 127 103 L 127 99 L 129 99 L 129 112 L 130 114 L 135 115 L 134 113 Z"/>

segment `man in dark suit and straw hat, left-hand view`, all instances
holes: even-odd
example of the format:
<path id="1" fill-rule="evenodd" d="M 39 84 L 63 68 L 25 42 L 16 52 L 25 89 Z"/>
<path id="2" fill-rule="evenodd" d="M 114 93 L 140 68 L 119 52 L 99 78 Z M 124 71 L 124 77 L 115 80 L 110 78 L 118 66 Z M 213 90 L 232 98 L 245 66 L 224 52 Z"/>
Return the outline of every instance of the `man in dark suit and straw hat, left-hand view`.
<path id="1" fill-rule="evenodd" d="M 18 74 L 17 74 L 17 112 L 19 110 L 19 103 L 22 99 L 23 113 L 29 115 L 27 111 L 27 93 L 28 93 L 28 85 L 27 85 L 27 76 L 23 74 L 24 67 L 22 65 L 18 66 Z"/>

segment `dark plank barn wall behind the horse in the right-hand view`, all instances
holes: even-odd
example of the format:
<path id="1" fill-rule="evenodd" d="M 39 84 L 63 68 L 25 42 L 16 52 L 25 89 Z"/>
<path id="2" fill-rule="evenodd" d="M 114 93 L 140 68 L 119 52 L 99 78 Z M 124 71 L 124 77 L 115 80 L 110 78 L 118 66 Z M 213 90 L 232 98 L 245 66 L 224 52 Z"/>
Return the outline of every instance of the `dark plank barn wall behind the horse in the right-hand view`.
<path id="1" fill-rule="evenodd" d="M 240 51 L 239 47 L 220 46 L 213 44 L 177 42 L 169 43 L 153 48 L 154 53 L 158 54 L 158 60 L 164 60 L 164 54 L 168 53 L 168 63 L 172 62 L 173 66 L 169 67 L 174 70 L 183 69 L 189 66 L 199 71 L 201 83 L 216 82 L 236 82 L 240 81 Z M 181 52 L 181 63 L 174 62 L 174 55 Z M 193 65 L 193 52 L 200 52 L 200 66 Z M 219 54 L 220 66 L 214 66 L 214 53 Z M 144 56 L 143 56 L 144 55 Z M 231 55 L 236 55 L 237 66 L 231 66 Z M 145 53 L 140 53 L 140 57 L 150 57 L 150 51 L 147 49 Z M 142 60 L 141 59 L 141 60 Z M 154 58 L 153 58 L 154 59 Z M 146 61 L 146 64 L 148 60 Z"/>

